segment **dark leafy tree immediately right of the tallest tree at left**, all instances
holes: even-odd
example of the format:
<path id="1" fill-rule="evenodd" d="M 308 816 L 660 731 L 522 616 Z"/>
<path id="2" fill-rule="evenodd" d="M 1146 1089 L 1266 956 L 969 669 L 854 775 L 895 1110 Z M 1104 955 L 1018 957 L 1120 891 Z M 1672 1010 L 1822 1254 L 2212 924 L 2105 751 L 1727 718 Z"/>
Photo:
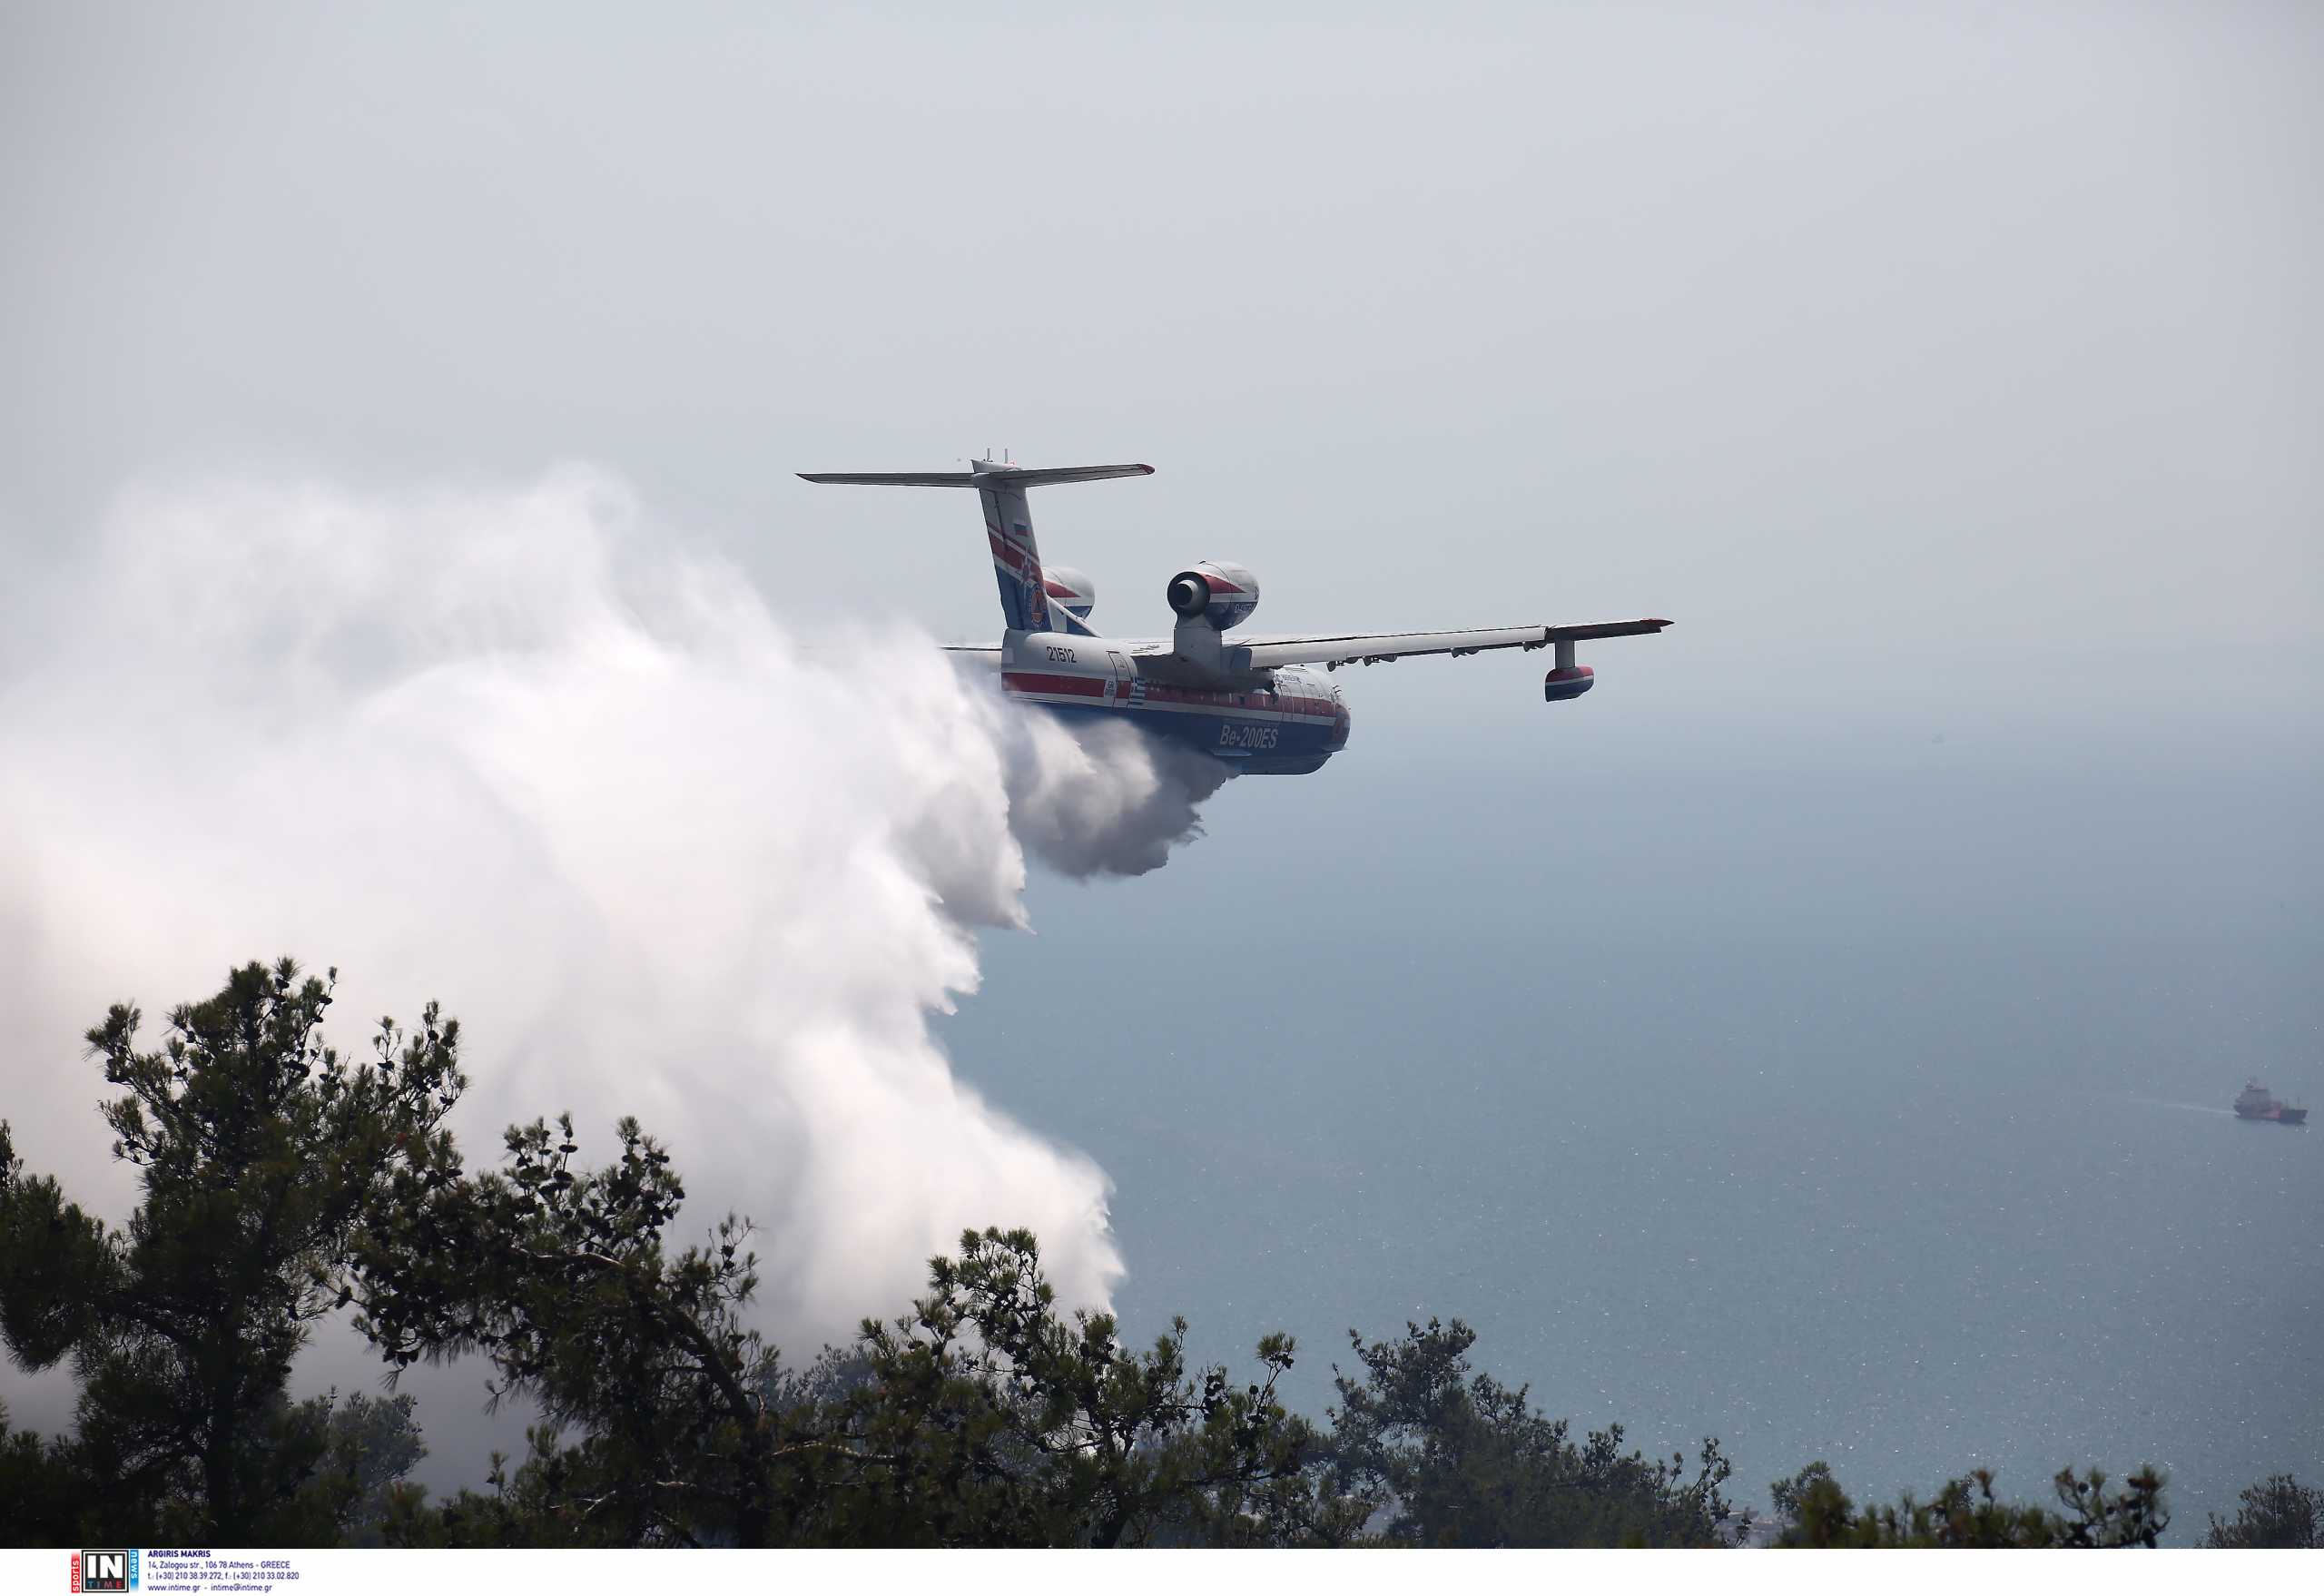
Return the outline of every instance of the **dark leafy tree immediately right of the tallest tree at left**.
<path id="1" fill-rule="evenodd" d="M 686 1187 L 634 1120 L 618 1141 L 614 1164 L 576 1169 L 572 1117 L 537 1120 L 509 1129 L 497 1171 L 467 1176 L 449 1143 L 397 1171 L 358 1257 L 358 1327 L 397 1368 L 481 1350 L 497 1396 L 539 1403 L 518 1468 L 528 1540 L 762 1545 L 781 1424 L 774 1352 L 741 1320 L 748 1227 L 730 1215 L 706 1243 L 669 1245 Z M 565 1431 L 579 1443 L 560 1447 Z M 451 1503 L 430 1533 L 504 1533 L 507 1480 L 495 1498 Z"/>

